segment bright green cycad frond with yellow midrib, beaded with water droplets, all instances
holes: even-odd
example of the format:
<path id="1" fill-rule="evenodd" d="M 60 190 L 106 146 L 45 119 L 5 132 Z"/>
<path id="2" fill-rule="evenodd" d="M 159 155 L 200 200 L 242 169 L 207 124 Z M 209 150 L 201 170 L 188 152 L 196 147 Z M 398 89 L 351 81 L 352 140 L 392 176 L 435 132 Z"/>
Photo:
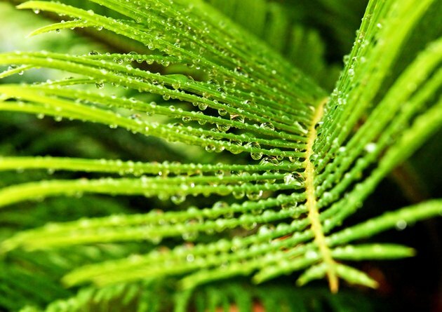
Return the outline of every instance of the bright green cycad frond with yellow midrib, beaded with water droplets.
<path id="1" fill-rule="evenodd" d="M 147 207 L 149 212 L 138 214 L 128 214 L 124 207 L 115 215 L 14 233 L 0 245 L 4 254 L 19 248 L 145 241 L 147 247 L 135 250 L 139 255 L 79 263 L 62 281 L 103 286 L 170 276 L 193 289 L 233 276 L 254 275 L 260 283 L 303 271 L 299 285 L 327 276 L 332 292 L 338 289 L 338 278 L 376 286 L 366 273 L 343 262 L 413 255 L 401 245 L 349 243 L 397 222 L 438 215 L 441 201 L 338 226 L 442 125 L 441 39 L 429 43 L 393 83 L 388 80 L 401 49 L 435 1 L 370 1 L 331 95 L 315 81 L 327 86 L 324 72 L 333 69 L 326 68 L 320 39 L 302 26 L 293 32 L 305 39 L 295 38 L 287 54 L 299 58 L 312 50 L 316 62 L 300 66 L 312 77 L 203 1 L 91 2 L 113 13 L 51 1 L 18 7 L 69 18 L 33 34 L 95 27 L 151 52 L 3 53 L 0 65 L 9 68 L 1 78 L 41 67 L 70 77 L 2 84 L 1 111 L 122 128 L 161 138 L 163 144 L 171 143 L 168 147 L 187 144 L 198 157 L 182 163 L 0 158 L 5 172 L 55 172 L 53 178 L 5 185 L 0 189 L 2 210 L 29 200 L 83 194 L 160 198 L 168 206 L 166 211 Z M 262 12 L 276 8 L 258 2 L 261 6 L 253 6 L 259 7 L 261 20 Z M 259 20 L 252 30 L 265 36 Z M 284 25 L 272 25 L 274 32 L 283 33 Z M 308 42 L 313 42 L 311 49 L 304 44 Z M 183 154 L 192 158 L 190 152 Z M 170 249 L 154 247 L 160 244 Z"/>

